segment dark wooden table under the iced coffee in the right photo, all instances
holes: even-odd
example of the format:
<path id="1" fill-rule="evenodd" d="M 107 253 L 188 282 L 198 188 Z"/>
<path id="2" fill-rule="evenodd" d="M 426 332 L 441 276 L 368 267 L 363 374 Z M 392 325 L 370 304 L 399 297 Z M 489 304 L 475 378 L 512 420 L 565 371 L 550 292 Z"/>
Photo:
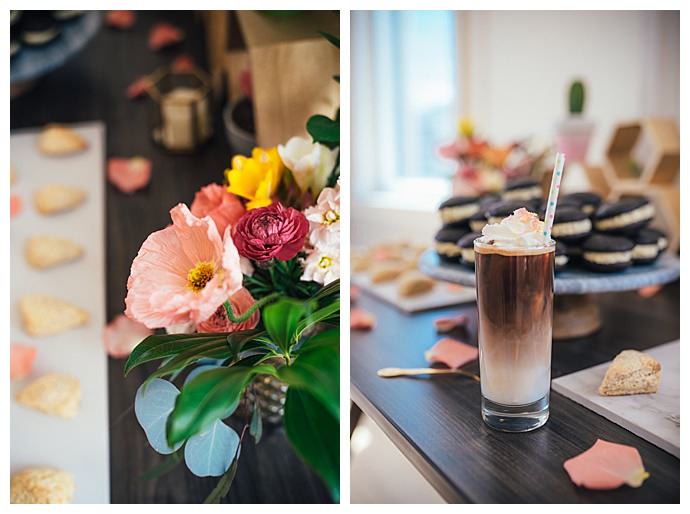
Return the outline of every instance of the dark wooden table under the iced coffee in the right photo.
<path id="1" fill-rule="evenodd" d="M 652 298 L 635 292 L 598 296 L 603 329 L 553 345 L 552 375 L 606 362 L 626 348 L 644 350 L 680 337 L 680 282 Z M 439 336 L 433 319 L 458 311 L 470 317 L 477 343 L 475 304 L 405 315 L 363 294 L 359 305 L 378 318 L 371 332 L 353 332 L 350 373 L 353 401 L 391 438 L 421 474 L 450 502 L 666 503 L 680 501 L 680 460 L 631 432 L 551 392 L 547 424 L 526 434 L 488 428 L 481 419 L 479 384 L 463 377 L 382 379 L 376 370 L 425 365 L 423 352 Z M 478 372 L 478 364 L 468 366 Z M 650 478 L 639 489 L 578 488 L 563 462 L 597 438 L 635 446 Z"/>

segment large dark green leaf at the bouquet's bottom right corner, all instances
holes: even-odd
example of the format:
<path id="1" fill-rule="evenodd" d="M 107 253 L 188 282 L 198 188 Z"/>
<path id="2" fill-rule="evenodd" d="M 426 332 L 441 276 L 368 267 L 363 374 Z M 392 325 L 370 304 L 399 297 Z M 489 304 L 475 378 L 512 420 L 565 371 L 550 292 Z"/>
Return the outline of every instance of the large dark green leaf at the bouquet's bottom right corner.
<path id="1" fill-rule="evenodd" d="M 285 400 L 285 433 L 297 453 L 328 485 L 334 501 L 340 497 L 340 424 L 306 391 L 289 388 Z"/>

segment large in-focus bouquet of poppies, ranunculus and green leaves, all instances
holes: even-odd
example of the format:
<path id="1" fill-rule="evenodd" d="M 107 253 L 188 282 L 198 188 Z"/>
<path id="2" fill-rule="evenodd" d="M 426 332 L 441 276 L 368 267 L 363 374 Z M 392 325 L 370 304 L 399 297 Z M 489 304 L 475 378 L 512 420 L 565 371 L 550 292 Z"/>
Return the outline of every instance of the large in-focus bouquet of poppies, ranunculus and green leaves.
<path id="1" fill-rule="evenodd" d="M 267 381 L 284 394 L 288 440 L 339 497 L 338 116 L 307 131 L 233 157 L 225 183 L 173 207 L 132 263 L 125 315 L 167 332 L 125 364 L 158 363 L 135 398 L 151 447 L 168 455 L 149 476 L 184 461 L 221 477 L 207 502 L 229 491 L 246 437 L 261 439 Z"/>

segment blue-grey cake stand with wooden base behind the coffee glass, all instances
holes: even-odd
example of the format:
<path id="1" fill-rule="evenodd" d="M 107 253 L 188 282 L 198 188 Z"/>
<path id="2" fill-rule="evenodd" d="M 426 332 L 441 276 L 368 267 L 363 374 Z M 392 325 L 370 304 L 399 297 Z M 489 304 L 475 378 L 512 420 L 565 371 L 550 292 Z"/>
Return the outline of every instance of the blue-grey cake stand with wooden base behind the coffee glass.
<path id="1" fill-rule="evenodd" d="M 437 280 L 475 287 L 474 270 L 462 264 L 442 262 L 434 250 L 419 260 L 419 269 Z M 669 253 L 646 266 L 631 266 L 618 273 L 594 273 L 575 267 L 556 273 L 554 282 L 553 338 L 588 336 L 601 327 L 595 293 L 630 291 L 666 284 L 680 277 L 680 260 Z"/>

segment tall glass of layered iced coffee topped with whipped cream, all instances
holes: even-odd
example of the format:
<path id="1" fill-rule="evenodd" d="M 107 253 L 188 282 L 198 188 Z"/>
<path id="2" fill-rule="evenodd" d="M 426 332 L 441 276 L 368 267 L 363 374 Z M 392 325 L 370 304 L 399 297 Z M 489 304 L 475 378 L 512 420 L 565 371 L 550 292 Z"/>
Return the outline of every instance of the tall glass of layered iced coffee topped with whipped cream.
<path id="1" fill-rule="evenodd" d="M 475 240 L 482 416 L 522 432 L 548 419 L 555 242 L 516 210 Z"/>

